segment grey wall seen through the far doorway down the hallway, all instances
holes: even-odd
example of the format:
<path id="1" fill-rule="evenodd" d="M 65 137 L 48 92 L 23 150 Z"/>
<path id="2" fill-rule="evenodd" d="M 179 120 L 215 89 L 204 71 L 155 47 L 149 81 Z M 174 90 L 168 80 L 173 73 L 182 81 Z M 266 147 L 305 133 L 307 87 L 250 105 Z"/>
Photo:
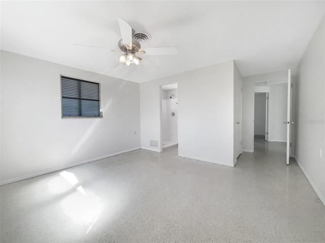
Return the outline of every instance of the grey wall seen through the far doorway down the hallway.
<path id="1" fill-rule="evenodd" d="M 255 93 L 254 135 L 265 135 L 266 93 Z"/>

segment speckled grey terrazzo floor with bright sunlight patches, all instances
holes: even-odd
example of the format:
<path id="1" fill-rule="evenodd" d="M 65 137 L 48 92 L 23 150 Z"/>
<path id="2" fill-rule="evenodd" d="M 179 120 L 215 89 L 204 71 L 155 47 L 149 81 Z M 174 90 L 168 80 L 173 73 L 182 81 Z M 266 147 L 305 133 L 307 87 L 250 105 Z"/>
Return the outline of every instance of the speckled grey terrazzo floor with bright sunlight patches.
<path id="1" fill-rule="evenodd" d="M 1 242 L 324 242 L 325 207 L 285 144 L 235 168 L 137 150 L 1 186 Z"/>

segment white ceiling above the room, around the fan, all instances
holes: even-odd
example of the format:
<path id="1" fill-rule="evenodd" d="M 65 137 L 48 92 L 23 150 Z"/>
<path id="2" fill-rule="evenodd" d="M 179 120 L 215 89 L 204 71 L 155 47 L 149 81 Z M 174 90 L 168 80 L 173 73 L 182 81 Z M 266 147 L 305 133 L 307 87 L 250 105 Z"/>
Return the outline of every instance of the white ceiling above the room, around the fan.
<path id="1" fill-rule="evenodd" d="M 142 83 L 234 59 L 243 76 L 295 68 L 324 1 L 2 1 L 1 49 Z M 151 34 L 142 48 L 178 48 L 118 65 L 117 17 Z"/>

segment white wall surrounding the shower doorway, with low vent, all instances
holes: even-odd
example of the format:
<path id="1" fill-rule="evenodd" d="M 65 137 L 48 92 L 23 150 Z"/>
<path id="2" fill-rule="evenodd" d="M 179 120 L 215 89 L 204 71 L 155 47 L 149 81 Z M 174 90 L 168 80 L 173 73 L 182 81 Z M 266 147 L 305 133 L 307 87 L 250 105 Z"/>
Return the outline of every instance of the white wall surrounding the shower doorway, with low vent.
<path id="1" fill-rule="evenodd" d="M 234 166 L 234 61 L 140 84 L 141 147 L 160 151 L 159 86 L 172 83 L 178 83 L 179 155 Z"/>

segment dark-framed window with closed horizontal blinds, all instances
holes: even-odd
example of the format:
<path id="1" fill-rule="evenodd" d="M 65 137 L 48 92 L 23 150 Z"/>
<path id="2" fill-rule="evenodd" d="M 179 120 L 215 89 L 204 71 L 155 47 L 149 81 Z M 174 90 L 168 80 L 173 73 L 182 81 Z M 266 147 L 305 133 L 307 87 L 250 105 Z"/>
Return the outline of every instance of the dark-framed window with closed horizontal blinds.
<path id="1" fill-rule="evenodd" d="M 100 85 L 61 76 L 62 117 L 100 117 Z"/>

